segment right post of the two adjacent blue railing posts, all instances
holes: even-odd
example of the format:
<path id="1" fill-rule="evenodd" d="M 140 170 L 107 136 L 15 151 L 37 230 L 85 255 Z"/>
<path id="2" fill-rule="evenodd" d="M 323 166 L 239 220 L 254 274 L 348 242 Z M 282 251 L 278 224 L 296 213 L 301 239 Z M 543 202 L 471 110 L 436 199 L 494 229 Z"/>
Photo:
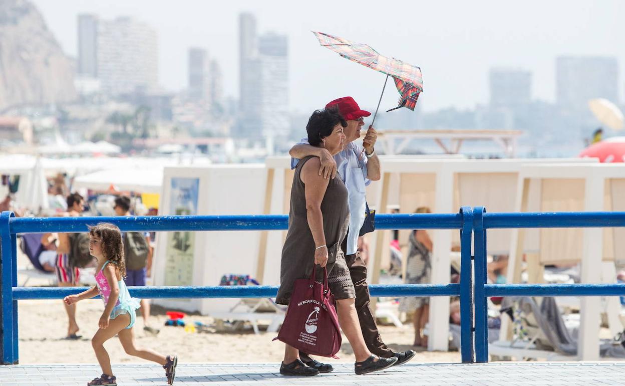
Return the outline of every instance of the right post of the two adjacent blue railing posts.
<path id="1" fill-rule="evenodd" d="M 486 229 L 484 229 L 484 206 L 473 209 L 474 280 L 473 302 L 475 305 L 475 361 L 488 362 L 488 325 L 486 284 Z"/>

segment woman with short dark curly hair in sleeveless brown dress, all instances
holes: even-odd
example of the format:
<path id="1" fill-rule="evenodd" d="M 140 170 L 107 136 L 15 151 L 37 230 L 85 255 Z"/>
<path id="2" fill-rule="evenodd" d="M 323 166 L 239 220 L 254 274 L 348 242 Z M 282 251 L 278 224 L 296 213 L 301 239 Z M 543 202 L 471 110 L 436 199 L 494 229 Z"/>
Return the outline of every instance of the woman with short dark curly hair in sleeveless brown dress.
<path id="1" fill-rule="evenodd" d="M 306 131 L 311 146 L 326 149 L 334 156 L 343 149 L 345 119 L 336 108 L 314 111 Z M 282 248 L 280 288 L 276 303 L 288 305 L 296 279 L 310 277 L 317 269 L 327 269 L 327 283 L 336 299 L 339 325 L 354 350 L 354 370 L 364 374 L 391 367 L 397 358 L 381 358 L 367 348 L 354 307 L 356 293 L 349 268 L 339 247 L 347 235 L 349 206 L 347 189 L 340 178 L 326 179 L 318 173 L 321 161 L 315 156 L 302 158 L 297 164 L 291 187 L 289 231 Z M 319 265 L 319 267 L 317 267 Z M 282 375 L 317 375 L 319 369 L 307 367 L 297 348 L 286 345 L 280 366 Z"/>

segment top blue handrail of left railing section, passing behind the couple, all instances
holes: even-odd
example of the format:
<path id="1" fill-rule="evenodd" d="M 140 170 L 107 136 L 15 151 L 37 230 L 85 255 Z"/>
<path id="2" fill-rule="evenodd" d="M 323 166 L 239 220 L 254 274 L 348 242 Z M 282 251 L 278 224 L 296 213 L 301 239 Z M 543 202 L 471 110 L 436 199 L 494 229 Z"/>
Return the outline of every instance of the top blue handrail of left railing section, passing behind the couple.
<path id="1" fill-rule="evenodd" d="M 228 216 L 114 216 L 114 217 L 17 217 L 9 219 L 11 233 L 84 232 L 101 222 L 122 231 L 230 231 L 286 230 L 287 215 Z M 376 215 L 376 229 L 460 229 L 459 213 L 411 213 Z"/>

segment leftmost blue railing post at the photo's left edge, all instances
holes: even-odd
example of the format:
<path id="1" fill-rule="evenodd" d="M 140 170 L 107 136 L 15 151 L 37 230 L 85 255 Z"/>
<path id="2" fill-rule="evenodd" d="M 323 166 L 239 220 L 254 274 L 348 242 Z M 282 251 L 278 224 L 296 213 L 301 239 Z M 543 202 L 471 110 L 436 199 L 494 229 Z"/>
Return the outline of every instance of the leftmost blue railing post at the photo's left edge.
<path id="1" fill-rule="evenodd" d="M 2 256 L 0 258 L 0 302 L 2 313 L 0 314 L 0 355 L 3 365 L 13 364 L 13 274 L 11 230 L 9 218 L 15 215 L 11 211 L 0 213 L 0 238 L 2 238 Z"/>

